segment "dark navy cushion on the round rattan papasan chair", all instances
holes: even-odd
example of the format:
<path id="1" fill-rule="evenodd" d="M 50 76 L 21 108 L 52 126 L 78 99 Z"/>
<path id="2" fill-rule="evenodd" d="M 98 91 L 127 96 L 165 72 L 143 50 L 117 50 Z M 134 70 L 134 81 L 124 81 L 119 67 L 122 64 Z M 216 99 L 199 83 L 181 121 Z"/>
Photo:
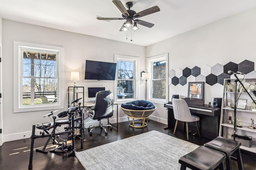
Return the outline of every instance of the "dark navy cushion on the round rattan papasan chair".
<path id="1" fill-rule="evenodd" d="M 127 102 L 122 104 L 121 107 L 129 110 L 151 110 L 155 108 L 154 104 L 146 100 L 135 100 L 132 102 Z"/>

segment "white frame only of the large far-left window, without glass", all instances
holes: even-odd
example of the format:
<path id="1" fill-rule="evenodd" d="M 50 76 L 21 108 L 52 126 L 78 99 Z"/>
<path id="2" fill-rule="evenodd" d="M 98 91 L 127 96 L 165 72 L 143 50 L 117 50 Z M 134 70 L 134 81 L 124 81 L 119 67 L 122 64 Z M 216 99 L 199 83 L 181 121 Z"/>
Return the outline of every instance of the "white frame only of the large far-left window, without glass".
<path id="1" fill-rule="evenodd" d="M 46 51 L 57 51 L 56 56 L 57 64 L 57 101 L 54 104 L 43 104 L 43 105 L 23 105 L 22 104 L 22 70 L 23 70 L 23 57 L 21 54 L 21 48 L 34 48 Z M 13 43 L 13 110 L 14 113 L 27 112 L 27 111 L 40 111 L 40 110 L 50 110 L 50 109 L 63 109 L 64 108 L 64 87 L 60 86 L 64 84 L 64 48 L 56 47 L 50 45 L 41 45 L 34 43 L 25 43 L 14 41 Z"/>

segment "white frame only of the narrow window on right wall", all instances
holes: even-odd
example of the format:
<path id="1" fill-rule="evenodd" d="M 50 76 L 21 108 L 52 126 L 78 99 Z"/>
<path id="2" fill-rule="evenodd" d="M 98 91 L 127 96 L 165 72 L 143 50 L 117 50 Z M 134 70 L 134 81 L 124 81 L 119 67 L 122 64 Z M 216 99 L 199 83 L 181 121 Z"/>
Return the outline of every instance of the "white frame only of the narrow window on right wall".
<path id="1" fill-rule="evenodd" d="M 147 89 L 148 92 L 147 96 L 148 96 L 148 101 L 153 102 L 153 103 L 158 103 L 158 104 L 165 104 L 166 102 L 168 102 L 168 53 L 162 54 L 162 55 L 158 55 L 158 56 L 154 56 L 154 57 L 149 57 L 146 59 L 147 62 L 147 71 L 146 72 L 150 72 L 152 73 L 153 71 L 153 63 L 157 62 L 157 61 L 166 61 L 166 99 L 156 99 L 156 98 L 152 98 L 152 80 L 148 80 L 147 83 Z M 151 76 L 153 77 L 153 74 L 151 74 Z"/>

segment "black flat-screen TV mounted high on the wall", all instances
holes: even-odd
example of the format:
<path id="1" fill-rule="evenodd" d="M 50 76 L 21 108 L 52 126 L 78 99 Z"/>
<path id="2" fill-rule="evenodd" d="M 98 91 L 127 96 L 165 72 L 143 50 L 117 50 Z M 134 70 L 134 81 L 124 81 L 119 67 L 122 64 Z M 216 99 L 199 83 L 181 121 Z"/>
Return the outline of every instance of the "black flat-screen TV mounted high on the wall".
<path id="1" fill-rule="evenodd" d="M 102 61 L 85 62 L 85 80 L 115 80 L 116 63 Z"/>

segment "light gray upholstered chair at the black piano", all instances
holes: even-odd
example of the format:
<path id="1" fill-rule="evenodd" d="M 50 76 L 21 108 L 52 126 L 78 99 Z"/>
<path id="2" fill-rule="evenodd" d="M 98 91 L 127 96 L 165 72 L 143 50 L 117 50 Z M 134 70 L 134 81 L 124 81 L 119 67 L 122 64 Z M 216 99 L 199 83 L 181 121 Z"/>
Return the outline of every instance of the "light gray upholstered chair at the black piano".
<path id="1" fill-rule="evenodd" d="M 190 113 L 190 109 L 188 108 L 188 104 L 186 103 L 186 101 L 184 99 L 172 99 L 172 106 L 173 106 L 173 113 L 174 113 L 174 118 L 176 119 L 176 123 L 175 123 L 175 127 L 174 127 L 174 132 L 173 134 L 175 134 L 177 125 L 178 125 L 178 121 L 182 121 L 183 122 L 183 131 L 184 131 L 184 122 L 186 122 L 186 131 L 187 131 L 187 140 L 188 140 L 188 122 L 196 122 L 196 128 L 198 131 L 198 135 L 200 136 L 200 132 L 198 129 L 198 121 L 200 120 L 200 118 L 196 115 L 191 115 Z"/>

